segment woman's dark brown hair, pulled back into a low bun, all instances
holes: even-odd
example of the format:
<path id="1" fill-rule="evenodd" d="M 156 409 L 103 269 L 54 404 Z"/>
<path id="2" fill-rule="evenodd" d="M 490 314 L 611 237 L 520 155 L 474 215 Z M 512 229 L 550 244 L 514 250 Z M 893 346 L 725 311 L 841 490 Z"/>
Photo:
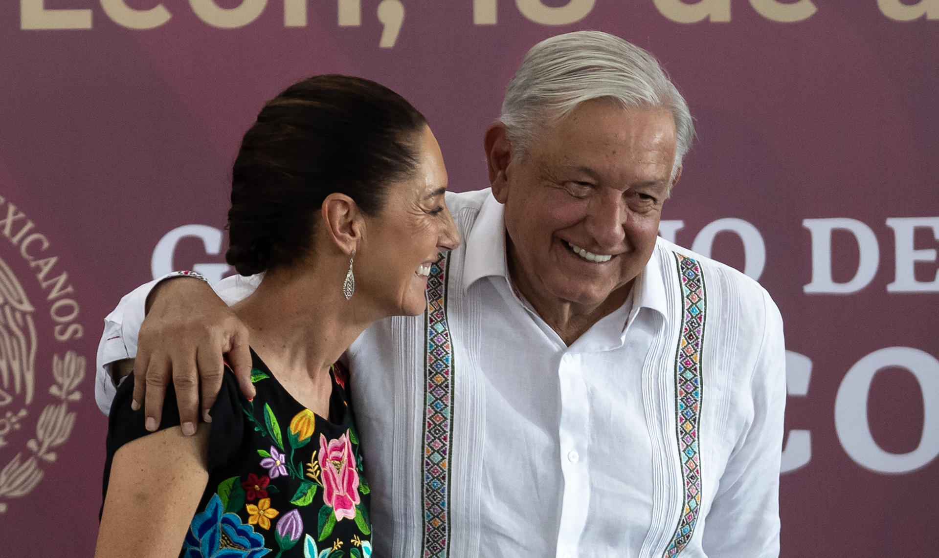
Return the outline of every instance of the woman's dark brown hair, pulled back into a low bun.
<path id="1" fill-rule="evenodd" d="M 405 98 L 362 78 L 314 76 L 287 87 L 241 141 L 225 260 L 241 275 L 294 263 L 309 252 L 333 192 L 375 215 L 388 186 L 416 171 L 415 135 L 426 125 Z"/>

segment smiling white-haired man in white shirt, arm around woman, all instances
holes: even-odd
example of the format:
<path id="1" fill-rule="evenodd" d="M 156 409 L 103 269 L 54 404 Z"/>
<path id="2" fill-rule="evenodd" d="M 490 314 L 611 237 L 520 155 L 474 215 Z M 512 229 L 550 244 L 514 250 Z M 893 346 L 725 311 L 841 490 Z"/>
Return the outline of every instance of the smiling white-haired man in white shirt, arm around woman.
<path id="1" fill-rule="evenodd" d="M 621 38 L 526 55 L 485 132 L 492 188 L 448 194 L 463 244 L 433 266 L 427 312 L 346 354 L 377 555 L 778 555 L 778 310 L 657 236 L 692 136 L 685 99 Z M 258 280 L 216 290 L 230 303 Z M 102 408 L 156 282 L 106 320 Z M 245 358 L 243 326 L 207 292 L 176 279 L 150 296 L 137 385 L 156 422 L 172 377 L 194 429 L 196 354 Z M 221 366 L 199 368 L 208 409 Z"/>

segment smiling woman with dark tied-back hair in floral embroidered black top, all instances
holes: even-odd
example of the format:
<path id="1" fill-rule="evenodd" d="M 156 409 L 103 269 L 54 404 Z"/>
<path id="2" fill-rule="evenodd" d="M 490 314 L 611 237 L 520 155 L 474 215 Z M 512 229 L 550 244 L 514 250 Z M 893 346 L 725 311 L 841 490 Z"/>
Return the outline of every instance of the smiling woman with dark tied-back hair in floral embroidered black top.
<path id="1" fill-rule="evenodd" d="M 431 264 L 459 244 L 446 183 L 423 115 L 386 87 L 316 76 L 269 101 L 235 161 L 226 254 L 241 275 L 264 272 L 233 307 L 256 395 L 226 373 L 209 428 L 187 436 L 172 396 L 151 433 L 132 375 L 120 385 L 96 556 L 371 554 L 337 360 L 368 325 L 425 309 Z"/>

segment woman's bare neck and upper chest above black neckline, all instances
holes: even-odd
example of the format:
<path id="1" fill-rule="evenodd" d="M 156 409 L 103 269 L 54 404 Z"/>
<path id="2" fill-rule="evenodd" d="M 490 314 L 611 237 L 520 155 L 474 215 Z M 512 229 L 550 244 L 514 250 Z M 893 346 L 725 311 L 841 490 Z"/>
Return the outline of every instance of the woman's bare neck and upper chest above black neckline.
<path id="1" fill-rule="evenodd" d="M 248 327 L 254 352 L 277 380 L 323 416 L 329 416 L 331 365 L 376 319 L 361 299 L 346 300 L 334 275 L 308 267 L 271 270 L 253 294 L 232 307 Z"/>

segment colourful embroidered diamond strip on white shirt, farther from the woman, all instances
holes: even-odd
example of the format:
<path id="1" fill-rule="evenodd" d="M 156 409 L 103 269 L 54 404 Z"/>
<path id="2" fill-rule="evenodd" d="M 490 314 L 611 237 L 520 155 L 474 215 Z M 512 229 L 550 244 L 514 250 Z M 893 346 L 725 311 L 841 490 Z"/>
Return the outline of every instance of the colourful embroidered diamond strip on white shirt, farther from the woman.
<path id="1" fill-rule="evenodd" d="M 695 532 L 701 503 L 700 431 L 701 346 L 704 340 L 704 276 L 697 260 L 675 254 L 682 283 L 682 335 L 675 354 L 675 407 L 678 455 L 682 460 L 685 492 L 682 515 L 663 557 L 685 550 Z"/>

